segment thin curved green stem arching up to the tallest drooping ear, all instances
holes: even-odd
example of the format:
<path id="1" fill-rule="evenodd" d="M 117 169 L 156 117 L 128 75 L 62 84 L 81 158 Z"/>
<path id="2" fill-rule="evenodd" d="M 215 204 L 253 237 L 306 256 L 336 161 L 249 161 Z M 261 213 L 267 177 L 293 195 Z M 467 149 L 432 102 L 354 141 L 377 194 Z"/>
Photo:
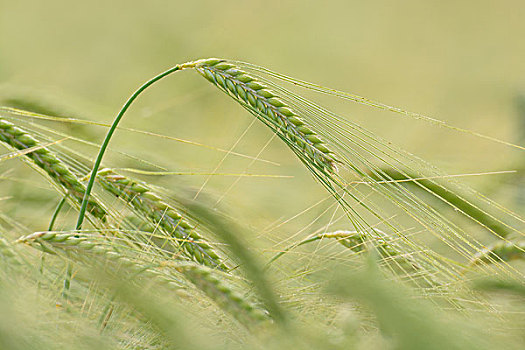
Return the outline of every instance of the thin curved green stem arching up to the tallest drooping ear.
<path id="1" fill-rule="evenodd" d="M 128 110 L 129 106 L 135 101 L 135 99 L 149 86 L 154 84 L 155 82 L 159 81 L 160 79 L 164 78 L 167 75 L 170 75 L 171 73 L 174 73 L 178 70 L 181 70 L 183 68 L 182 65 L 176 65 L 175 67 L 172 67 L 168 69 L 167 71 L 157 75 L 156 77 L 153 77 L 152 79 L 145 82 L 141 87 L 139 87 L 133 95 L 131 95 L 124 106 L 122 106 L 120 112 L 117 114 L 117 117 L 113 121 L 113 124 L 109 128 L 108 133 L 106 134 L 106 138 L 104 139 L 104 142 L 102 143 L 102 146 L 100 146 L 100 150 L 97 155 L 97 159 L 95 160 L 95 164 L 93 165 L 93 169 L 91 170 L 91 176 L 89 178 L 89 182 L 86 187 L 86 192 L 84 193 L 84 198 L 82 199 L 82 205 L 80 206 L 80 212 L 78 214 L 78 220 L 77 220 L 77 226 L 76 229 L 80 230 L 82 228 L 82 223 L 84 222 L 84 216 L 86 214 L 87 204 L 89 200 L 89 195 L 91 194 L 91 190 L 93 189 L 93 185 L 95 183 L 95 177 L 97 176 L 98 169 L 100 168 L 100 163 L 102 163 L 102 157 L 104 156 L 104 153 L 106 149 L 108 148 L 109 141 L 111 140 L 111 137 L 113 136 L 113 133 L 117 129 L 118 123 L 124 116 L 124 113 Z"/>

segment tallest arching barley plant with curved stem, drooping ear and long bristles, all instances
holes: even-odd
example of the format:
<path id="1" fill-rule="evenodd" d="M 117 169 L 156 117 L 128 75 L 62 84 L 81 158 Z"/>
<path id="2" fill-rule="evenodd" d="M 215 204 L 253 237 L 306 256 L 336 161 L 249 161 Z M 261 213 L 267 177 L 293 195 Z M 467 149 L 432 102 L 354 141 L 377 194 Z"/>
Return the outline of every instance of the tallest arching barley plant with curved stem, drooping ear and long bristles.
<path id="1" fill-rule="evenodd" d="M 385 186 L 369 175 L 370 172 L 380 172 L 385 166 L 397 170 L 400 165 L 409 166 L 410 169 L 407 170 L 415 169 L 416 173 L 423 169 L 439 175 L 433 166 L 396 148 L 390 142 L 350 120 L 341 118 L 273 83 L 271 79 L 412 117 L 416 115 L 296 80 L 263 67 L 223 59 L 203 59 L 176 65 L 145 82 L 129 97 L 114 119 L 95 160 L 79 211 L 77 230 L 82 226 L 96 174 L 118 123 L 144 90 L 160 79 L 183 69 L 197 70 L 270 127 L 293 150 L 316 180 L 337 200 L 348 214 L 347 217 L 356 231 L 368 234 L 372 227 L 379 224 L 390 235 L 399 238 L 402 251 L 420 261 L 420 266 L 424 267 L 419 275 L 432 276 L 431 279 L 441 280 L 443 285 L 452 285 L 451 283 L 456 283 L 461 276 L 458 267 L 461 262 L 458 265 L 457 262 L 440 256 L 421 243 L 417 237 L 412 238 L 411 235 L 405 234 L 407 230 L 421 235 L 432 234 L 467 261 L 481 250 L 475 237 L 454 225 L 440 212 L 430 208 L 417 195 L 397 183 Z M 271 79 L 266 79 L 264 76 Z M 424 116 L 418 117 L 431 120 Z M 439 121 L 435 124 L 446 126 Z M 482 137 L 476 133 L 471 134 Z M 485 138 L 494 141 L 493 138 Z M 340 170 L 336 169 L 336 165 Z M 383 206 L 385 200 L 392 206 Z M 487 202 L 492 203 L 489 200 Z M 505 208 L 499 207 L 498 210 L 507 216 L 511 215 Z M 511 230 L 520 232 L 519 229 L 511 228 Z"/>

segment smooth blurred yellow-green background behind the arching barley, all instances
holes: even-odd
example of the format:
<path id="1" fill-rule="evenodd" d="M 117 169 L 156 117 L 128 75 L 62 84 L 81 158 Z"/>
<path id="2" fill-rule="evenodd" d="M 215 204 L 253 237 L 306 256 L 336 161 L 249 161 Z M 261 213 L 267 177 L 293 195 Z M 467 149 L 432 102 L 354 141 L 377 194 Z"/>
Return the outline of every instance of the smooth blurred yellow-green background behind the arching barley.
<path id="1" fill-rule="evenodd" d="M 3 0 L 0 98 L 4 105 L 110 123 L 130 93 L 153 75 L 188 60 L 224 57 L 523 145 L 524 15 L 523 1 Z M 348 101 L 316 100 L 450 174 L 522 167 L 523 151 L 512 147 Z M 191 195 L 206 183 L 210 201 L 224 203 L 262 232 L 326 193 L 281 142 L 263 149 L 271 134 L 260 123 L 249 127 L 252 119 L 197 74 L 182 72 L 145 93 L 122 126 L 223 150 L 235 145 L 236 152 L 260 153 L 279 166 L 235 156 L 221 163 L 224 152 L 128 131 L 119 131 L 111 146 L 173 172 L 279 176 L 142 176 Z M 100 142 L 106 129 L 66 131 Z M 83 151 L 96 154 L 95 148 Z M 158 170 L 118 152 L 105 163 Z M 516 187 L 504 185 L 513 176 L 463 180 L 509 204 Z M 12 181 L 3 186 L 17 196 L 38 197 Z M 49 213 L 56 201 L 41 196 L 34 210 Z M 19 217 L 30 215 L 16 210 Z"/>

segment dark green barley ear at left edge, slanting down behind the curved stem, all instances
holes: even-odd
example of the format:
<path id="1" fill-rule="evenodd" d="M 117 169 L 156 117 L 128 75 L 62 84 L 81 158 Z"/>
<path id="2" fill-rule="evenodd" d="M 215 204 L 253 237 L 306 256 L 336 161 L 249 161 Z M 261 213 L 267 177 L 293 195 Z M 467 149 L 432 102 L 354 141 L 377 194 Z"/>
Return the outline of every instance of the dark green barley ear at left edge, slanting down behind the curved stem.
<path id="1" fill-rule="evenodd" d="M 52 151 L 41 146 L 39 141 L 27 131 L 15 126 L 13 123 L 0 119 L 0 141 L 17 150 L 34 149 L 26 153 L 26 159 L 30 159 L 34 165 L 43 170 L 61 189 L 77 203 L 81 203 L 86 192 L 85 186 L 71 172 Z M 90 198 L 87 204 L 88 212 L 95 218 L 105 222 L 107 211 L 96 199 Z"/>

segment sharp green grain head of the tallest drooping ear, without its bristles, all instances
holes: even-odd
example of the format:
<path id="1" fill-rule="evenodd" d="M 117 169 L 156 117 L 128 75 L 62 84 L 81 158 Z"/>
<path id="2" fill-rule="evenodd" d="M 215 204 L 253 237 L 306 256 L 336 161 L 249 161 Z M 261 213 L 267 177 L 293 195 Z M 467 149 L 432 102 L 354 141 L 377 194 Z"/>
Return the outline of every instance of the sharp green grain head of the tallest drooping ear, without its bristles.
<path id="1" fill-rule="evenodd" d="M 242 106 L 262 119 L 286 143 L 316 167 L 335 172 L 333 152 L 293 108 L 259 79 L 226 60 L 210 58 L 189 64 L 203 77 L 225 91 Z"/>

